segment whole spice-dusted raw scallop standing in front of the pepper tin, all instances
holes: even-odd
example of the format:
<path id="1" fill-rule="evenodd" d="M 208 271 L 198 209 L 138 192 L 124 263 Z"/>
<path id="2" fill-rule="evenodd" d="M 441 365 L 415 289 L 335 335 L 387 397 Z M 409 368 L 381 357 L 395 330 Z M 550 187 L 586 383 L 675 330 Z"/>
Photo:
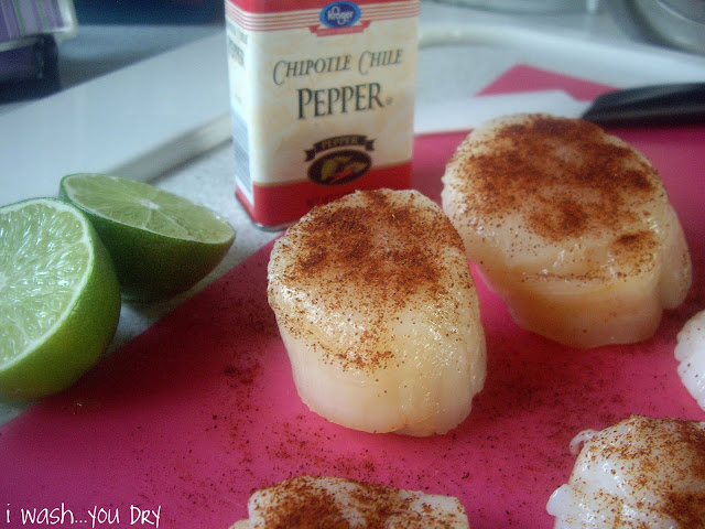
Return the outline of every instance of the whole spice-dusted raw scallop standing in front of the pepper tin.
<path id="1" fill-rule="evenodd" d="M 463 241 L 415 191 L 318 206 L 278 239 L 269 302 L 302 400 L 367 432 L 445 433 L 485 382 Z"/>

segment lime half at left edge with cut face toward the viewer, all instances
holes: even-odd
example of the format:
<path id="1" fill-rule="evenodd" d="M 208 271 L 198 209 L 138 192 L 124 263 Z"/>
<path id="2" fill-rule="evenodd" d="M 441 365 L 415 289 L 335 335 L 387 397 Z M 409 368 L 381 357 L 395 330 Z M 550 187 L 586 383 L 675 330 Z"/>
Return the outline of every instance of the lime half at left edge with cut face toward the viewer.
<path id="1" fill-rule="evenodd" d="M 112 261 L 84 214 L 53 198 L 0 207 L 0 397 L 67 388 L 120 317 Z"/>

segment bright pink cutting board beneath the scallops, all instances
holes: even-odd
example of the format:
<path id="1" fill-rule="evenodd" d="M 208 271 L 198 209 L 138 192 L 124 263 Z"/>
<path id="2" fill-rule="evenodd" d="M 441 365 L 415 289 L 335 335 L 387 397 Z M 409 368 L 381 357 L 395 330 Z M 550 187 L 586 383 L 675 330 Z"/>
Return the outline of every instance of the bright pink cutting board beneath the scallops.
<path id="1" fill-rule="evenodd" d="M 535 88 L 584 98 L 607 89 L 518 66 L 487 91 Z M 474 529 L 552 527 L 545 504 L 568 477 L 579 430 L 630 413 L 705 420 L 673 358 L 676 332 L 705 307 L 705 128 L 614 133 L 661 171 L 694 261 L 688 299 L 652 339 L 561 347 L 519 330 L 478 281 L 488 378 L 470 417 L 430 439 L 356 432 L 296 395 L 267 304 L 267 246 L 74 388 L 0 429 L 0 529 L 68 527 L 72 516 L 79 527 L 155 527 L 153 514 L 138 514 L 147 510 L 159 511 L 162 528 L 227 528 L 246 516 L 253 489 L 300 474 L 455 495 Z M 416 139 L 414 183 L 434 199 L 463 137 Z M 22 522 L 26 509 L 55 518 Z"/>

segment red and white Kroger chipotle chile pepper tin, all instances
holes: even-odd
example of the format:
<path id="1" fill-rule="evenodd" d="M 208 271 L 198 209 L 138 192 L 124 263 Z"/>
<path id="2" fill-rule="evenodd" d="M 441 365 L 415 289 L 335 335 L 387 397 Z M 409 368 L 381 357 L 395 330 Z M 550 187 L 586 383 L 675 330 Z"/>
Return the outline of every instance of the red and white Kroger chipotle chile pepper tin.
<path id="1" fill-rule="evenodd" d="M 226 0 L 236 195 L 281 228 L 411 185 L 420 0 Z"/>

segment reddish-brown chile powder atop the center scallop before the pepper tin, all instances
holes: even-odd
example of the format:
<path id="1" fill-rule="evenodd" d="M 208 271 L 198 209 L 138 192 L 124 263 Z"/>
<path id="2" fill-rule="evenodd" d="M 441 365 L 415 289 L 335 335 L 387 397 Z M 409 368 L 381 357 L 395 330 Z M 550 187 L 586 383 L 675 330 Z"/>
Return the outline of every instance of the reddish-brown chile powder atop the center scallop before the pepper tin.
<path id="1" fill-rule="evenodd" d="M 269 300 L 293 336 L 312 333 L 305 310 L 279 305 L 286 291 L 295 307 L 315 306 L 366 322 L 359 347 L 329 360 L 344 368 L 383 368 L 394 355 L 383 342 L 394 315 L 419 303 L 435 306 L 454 287 L 446 251 L 465 249 L 457 231 L 435 204 L 415 192 L 361 191 L 317 207 L 290 227 L 272 252 Z M 432 207 L 431 207 L 432 206 Z M 467 272 L 467 273 L 466 273 Z M 464 281 L 471 284 L 469 271 Z M 315 336 L 310 339 L 316 344 Z M 326 352 L 318 352 L 322 357 Z"/>

